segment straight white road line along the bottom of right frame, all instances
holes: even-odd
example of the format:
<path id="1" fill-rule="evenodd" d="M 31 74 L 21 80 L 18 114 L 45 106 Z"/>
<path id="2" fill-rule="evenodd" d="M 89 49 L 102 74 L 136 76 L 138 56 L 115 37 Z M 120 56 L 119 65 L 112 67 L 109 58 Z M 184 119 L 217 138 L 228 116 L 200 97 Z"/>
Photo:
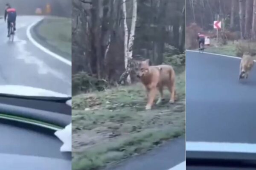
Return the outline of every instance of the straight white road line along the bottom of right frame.
<path id="1" fill-rule="evenodd" d="M 256 153 L 256 144 L 227 142 L 186 142 L 186 151 Z"/>

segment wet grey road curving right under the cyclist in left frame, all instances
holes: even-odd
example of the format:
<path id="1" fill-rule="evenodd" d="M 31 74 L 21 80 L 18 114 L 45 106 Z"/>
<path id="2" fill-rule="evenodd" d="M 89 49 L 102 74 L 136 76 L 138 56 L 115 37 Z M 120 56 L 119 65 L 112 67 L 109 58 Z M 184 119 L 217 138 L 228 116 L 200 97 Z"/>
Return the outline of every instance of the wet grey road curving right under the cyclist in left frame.
<path id="1" fill-rule="evenodd" d="M 14 42 L 7 39 L 6 23 L 0 19 L 0 85 L 25 85 L 71 96 L 71 65 L 42 51 L 28 38 L 29 26 L 41 19 L 17 17 Z"/>

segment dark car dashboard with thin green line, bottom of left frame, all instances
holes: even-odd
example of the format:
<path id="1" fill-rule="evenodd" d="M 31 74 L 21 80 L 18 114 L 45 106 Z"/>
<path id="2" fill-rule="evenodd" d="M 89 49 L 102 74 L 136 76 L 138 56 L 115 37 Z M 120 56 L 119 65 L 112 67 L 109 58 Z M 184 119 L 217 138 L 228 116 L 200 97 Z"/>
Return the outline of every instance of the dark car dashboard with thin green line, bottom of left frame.
<path id="1" fill-rule="evenodd" d="M 71 123 L 70 104 L 71 98 L 0 96 L 1 168 L 70 170 L 71 152 L 61 152 L 54 135 Z"/>

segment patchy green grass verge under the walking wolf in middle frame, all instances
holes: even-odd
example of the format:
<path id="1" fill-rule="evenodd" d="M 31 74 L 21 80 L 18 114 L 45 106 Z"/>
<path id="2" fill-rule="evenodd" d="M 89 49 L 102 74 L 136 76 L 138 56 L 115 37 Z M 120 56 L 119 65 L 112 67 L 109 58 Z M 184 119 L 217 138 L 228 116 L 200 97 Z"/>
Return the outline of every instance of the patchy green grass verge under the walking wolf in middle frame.
<path id="1" fill-rule="evenodd" d="M 145 153 L 185 133 L 185 69 L 177 74 L 177 102 L 165 101 L 145 111 L 145 91 L 138 83 L 80 94 L 72 101 L 72 169 L 99 170 Z"/>

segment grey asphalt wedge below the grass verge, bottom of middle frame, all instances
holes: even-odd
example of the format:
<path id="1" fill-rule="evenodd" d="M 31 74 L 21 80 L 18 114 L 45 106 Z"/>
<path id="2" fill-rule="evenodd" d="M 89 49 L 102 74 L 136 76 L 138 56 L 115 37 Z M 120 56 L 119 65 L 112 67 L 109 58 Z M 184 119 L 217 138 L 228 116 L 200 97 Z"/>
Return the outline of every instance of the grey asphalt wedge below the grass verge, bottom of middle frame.
<path id="1" fill-rule="evenodd" d="M 134 156 L 108 170 L 169 170 L 183 161 L 185 161 L 185 136 L 167 142 L 145 155 Z"/>

